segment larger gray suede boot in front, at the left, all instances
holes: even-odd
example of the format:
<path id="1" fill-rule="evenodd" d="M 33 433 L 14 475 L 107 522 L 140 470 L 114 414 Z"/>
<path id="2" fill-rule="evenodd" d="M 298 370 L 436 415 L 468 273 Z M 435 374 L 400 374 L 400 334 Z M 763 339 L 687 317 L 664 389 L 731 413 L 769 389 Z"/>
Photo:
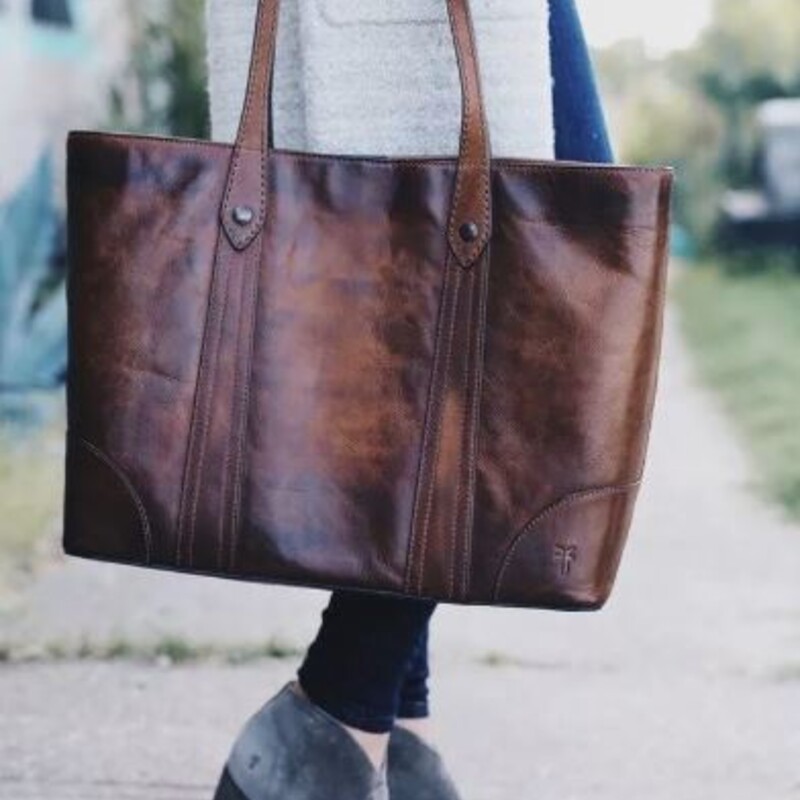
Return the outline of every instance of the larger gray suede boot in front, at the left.
<path id="1" fill-rule="evenodd" d="M 344 726 L 287 684 L 245 724 L 214 800 L 389 800 Z"/>

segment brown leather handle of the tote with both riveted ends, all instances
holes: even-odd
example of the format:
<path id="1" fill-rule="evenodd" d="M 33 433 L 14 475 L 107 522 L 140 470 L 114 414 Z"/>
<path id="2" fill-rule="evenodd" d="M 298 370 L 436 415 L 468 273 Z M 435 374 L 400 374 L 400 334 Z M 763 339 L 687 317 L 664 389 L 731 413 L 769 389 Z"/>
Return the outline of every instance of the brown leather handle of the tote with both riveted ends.
<path id="1" fill-rule="evenodd" d="M 453 255 L 465 268 L 491 236 L 491 146 L 468 0 L 446 0 L 461 81 L 461 136 L 448 222 Z M 266 219 L 271 87 L 280 0 L 259 0 L 244 108 L 221 209 L 231 245 L 245 249 Z"/>

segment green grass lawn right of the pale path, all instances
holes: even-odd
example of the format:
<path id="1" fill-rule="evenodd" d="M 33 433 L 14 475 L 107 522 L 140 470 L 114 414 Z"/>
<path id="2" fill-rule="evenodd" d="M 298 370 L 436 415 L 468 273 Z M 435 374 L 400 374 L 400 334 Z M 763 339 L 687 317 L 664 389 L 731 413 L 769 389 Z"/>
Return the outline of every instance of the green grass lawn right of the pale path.
<path id="1" fill-rule="evenodd" d="M 800 273 L 705 264 L 674 289 L 700 373 L 742 431 L 759 488 L 800 520 Z"/>

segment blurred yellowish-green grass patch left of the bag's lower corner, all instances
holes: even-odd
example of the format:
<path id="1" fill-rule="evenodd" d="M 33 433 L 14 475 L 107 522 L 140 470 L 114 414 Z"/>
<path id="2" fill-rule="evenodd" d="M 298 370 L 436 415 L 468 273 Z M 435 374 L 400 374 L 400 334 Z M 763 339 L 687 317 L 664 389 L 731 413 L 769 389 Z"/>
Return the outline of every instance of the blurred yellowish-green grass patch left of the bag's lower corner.
<path id="1" fill-rule="evenodd" d="M 0 594 L 33 569 L 57 535 L 63 433 L 51 426 L 22 442 L 0 430 Z"/>

